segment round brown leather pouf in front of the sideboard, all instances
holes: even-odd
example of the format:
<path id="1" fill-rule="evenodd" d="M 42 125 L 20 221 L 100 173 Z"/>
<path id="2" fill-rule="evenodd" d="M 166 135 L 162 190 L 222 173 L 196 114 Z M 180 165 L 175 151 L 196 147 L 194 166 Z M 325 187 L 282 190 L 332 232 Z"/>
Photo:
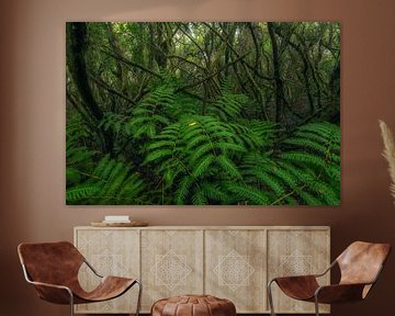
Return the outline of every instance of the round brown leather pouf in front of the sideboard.
<path id="1" fill-rule="evenodd" d="M 182 295 L 154 303 L 151 316 L 235 316 L 235 304 L 211 295 Z"/>

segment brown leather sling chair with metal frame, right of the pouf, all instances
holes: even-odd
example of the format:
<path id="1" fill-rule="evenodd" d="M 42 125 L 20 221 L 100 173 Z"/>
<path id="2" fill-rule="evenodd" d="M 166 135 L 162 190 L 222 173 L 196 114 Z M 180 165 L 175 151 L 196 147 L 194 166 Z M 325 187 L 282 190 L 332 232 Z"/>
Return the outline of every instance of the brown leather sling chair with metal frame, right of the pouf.
<path id="1" fill-rule="evenodd" d="M 324 273 L 274 278 L 268 284 L 271 315 L 275 315 L 271 293 L 273 282 L 292 298 L 314 302 L 317 316 L 319 316 L 318 303 L 346 303 L 365 298 L 377 281 L 390 251 L 391 245 L 388 244 L 356 241 Z M 317 278 L 325 275 L 336 264 L 340 269 L 340 282 L 320 286 Z"/>

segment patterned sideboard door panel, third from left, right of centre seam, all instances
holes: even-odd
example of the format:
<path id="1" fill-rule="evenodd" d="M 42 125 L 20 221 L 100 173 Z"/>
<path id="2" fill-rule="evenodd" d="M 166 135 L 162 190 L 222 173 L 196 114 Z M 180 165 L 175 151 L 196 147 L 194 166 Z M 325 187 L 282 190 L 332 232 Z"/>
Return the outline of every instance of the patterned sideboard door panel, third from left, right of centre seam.
<path id="1" fill-rule="evenodd" d="M 205 230 L 205 293 L 226 297 L 237 313 L 266 308 L 266 230 Z"/>

